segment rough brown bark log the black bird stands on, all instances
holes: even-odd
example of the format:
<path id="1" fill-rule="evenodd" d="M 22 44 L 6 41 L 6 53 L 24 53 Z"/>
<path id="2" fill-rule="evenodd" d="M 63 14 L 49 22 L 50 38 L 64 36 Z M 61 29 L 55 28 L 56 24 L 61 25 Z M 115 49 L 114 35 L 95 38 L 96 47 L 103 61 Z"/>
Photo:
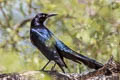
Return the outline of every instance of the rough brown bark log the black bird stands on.
<path id="1" fill-rule="evenodd" d="M 88 73 L 61 73 L 57 71 L 44 71 L 52 77 L 52 80 L 119 80 L 120 62 L 111 57 L 110 60 L 99 70 Z M 24 73 L 0 74 L 0 80 L 40 80 L 40 71 L 28 71 Z"/>

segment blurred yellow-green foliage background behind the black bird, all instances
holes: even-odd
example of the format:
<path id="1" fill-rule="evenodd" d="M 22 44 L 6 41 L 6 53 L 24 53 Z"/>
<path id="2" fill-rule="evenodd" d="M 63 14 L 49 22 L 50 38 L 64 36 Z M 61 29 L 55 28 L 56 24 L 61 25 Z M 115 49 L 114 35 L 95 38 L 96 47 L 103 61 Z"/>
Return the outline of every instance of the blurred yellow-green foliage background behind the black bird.
<path id="1" fill-rule="evenodd" d="M 58 14 L 46 25 L 73 50 L 103 64 L 111 55 L 120 61 L 119 0 L 0 0 L 0 73 L 39 70 L 46 64 L 29 39 L 30 20 L 39 12 Z M 88 70 L 65 61 L 70 72 Z"/>

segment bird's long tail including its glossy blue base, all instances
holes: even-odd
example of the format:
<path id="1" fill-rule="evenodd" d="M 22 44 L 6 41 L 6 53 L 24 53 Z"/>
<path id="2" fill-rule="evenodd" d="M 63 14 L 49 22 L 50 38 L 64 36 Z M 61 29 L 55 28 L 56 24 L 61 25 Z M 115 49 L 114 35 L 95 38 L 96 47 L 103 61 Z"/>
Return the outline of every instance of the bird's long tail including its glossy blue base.
<path id="1" fill-rule="evenodd" d="M 82 54 L 79 54 L 79 53 L 73 51 L 72 49 L 67 47 L 62 41 L 59 41 L 57 39 L 56 39 L 56 49 L 63 57 L 70 59 L 77 63 L 82 62 L 89 68 L 99 69 L 99 68 L 103 67 L 103 64 L 97 62 L 94 59 L 88 58 Z"/>

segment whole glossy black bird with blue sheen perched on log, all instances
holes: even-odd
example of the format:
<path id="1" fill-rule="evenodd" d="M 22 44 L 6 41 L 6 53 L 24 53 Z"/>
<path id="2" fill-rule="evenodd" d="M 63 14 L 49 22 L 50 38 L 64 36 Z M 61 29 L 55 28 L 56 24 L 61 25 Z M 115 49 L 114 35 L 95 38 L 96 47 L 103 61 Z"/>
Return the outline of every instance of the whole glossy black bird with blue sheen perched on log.
<path id="1" fill-rule="evenodd" d="M 65 72 L 63 67 L 68 67 L 64 62 L 64 58 L 70 59 L 77 63 L 82 62 L 89 68 L 101 68 L 103 64 L 73 51 L 54 36 L 54 34 L 44 25 L 46 19 L 51 16 L 56 16 L 56 14 L 38 13 L 31 22 L 31 42 L 49 60 L 42 70 L 45 69 L 50 61 L 55 61 L 55 65 L 57 64 L 61 70 Z"/>

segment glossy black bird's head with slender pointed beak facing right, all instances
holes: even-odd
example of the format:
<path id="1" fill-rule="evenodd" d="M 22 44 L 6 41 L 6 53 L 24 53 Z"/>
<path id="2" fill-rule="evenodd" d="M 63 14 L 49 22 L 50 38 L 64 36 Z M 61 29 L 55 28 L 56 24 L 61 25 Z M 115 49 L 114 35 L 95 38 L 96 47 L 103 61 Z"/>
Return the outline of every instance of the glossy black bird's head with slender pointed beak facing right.
<path id="1" fill-rule="evenodd" d="M 36 21 L 38 21 L 39 23 L 44 23 L 44 21 L 52 16 L 56 16 L 57 14 L 47 14 L 47 13 L 38 13 L 35 16 Z"/>

